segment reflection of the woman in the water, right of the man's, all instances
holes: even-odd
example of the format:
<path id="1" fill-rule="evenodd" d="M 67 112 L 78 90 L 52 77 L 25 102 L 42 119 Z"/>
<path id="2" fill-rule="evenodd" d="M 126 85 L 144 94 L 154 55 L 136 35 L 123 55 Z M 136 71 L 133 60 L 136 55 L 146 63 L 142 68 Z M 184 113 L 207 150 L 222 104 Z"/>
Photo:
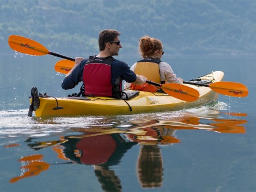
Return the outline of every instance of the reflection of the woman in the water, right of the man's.
<path id="1" fill-rule="evenodd" d="M 159 146 L 180 143 L 176 139 L 175 130 L 166 126 L 151 127 L 152 122 L 147 122 L 141 131 L 144 135 L 129 135 L 130 141 L 142 145 L 137 161 L 137 177 L 142 188 L 161 187 L 163 182 L 163 159 Z M 148 124 L 148 127 L 147 127 Z"/>

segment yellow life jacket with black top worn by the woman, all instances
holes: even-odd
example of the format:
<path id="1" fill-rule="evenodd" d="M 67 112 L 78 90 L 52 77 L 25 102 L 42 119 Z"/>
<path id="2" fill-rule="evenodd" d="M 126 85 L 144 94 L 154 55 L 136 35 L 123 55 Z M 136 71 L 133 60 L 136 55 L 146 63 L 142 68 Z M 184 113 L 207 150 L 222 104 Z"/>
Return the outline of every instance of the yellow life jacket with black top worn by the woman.
<path id="1" fill-rule="evenodd" d="M 160 84 L 160 59 L 146 58 L 137 62 L 134 73 L 145 76 L 148 81 L 154 81 Z"/>

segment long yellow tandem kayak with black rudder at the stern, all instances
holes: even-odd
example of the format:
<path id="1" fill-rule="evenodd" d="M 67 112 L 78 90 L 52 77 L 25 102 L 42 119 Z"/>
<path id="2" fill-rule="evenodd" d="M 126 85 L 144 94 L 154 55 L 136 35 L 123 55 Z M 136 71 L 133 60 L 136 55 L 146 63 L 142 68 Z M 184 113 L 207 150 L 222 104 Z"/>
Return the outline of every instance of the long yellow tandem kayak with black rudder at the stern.
<path id="1" fill-rule="evenodd" d="M 212 72 L 191 80 L 201 84 L 212 84 L 222 81 L 224 73 Z M 122 115 L 147 112 L 161 112 L 191 108 L 216 100 L 218 93 L 209 87 L 188 85 L 199 91 L 199 98 L 193 102 L 182 101 L 166 93 L 151 93 L 147 91 L 125 91 L 131 95 L 130 99 L 116 99 L 110 97 L 49 97 L 39 94 L 36 87 L 31 90 L 30 112 L 35 111 L 35 116 L 82 116 L 82 115 Z"/>

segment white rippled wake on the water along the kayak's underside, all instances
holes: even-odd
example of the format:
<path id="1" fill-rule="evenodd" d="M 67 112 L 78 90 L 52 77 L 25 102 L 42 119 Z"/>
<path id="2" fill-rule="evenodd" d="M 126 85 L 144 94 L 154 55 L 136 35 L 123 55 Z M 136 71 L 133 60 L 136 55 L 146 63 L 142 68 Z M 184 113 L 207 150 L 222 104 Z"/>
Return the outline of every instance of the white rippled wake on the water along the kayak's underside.
<path id="1" fill-rule="evenodd" d="M 172 126 L 176 126 L 176 124 L 182 124 L 184 126 L 180 122 L 184 122 L 184 119 L 188 118 L 196 117 L 204 120 L 219 119 L 220 115 L 225 115 L 222 110 L 228 110 L 228 105 L 218 101 L 214 101 L 207 106 L 180 111 L 118 116 L 31 118 L 27 116 L 28 110 L 6 110 L 0 111 L 0 133 L 2 137 L 18 137 L 21 135 L 40 137 L 99 127 L 125 130 L 131 127 L 143 126 L 143 124 L 152 121 L 167 122 L 163 124 L 169 123 Z M 200 126 L 203 127 L 202 125 Z"/>

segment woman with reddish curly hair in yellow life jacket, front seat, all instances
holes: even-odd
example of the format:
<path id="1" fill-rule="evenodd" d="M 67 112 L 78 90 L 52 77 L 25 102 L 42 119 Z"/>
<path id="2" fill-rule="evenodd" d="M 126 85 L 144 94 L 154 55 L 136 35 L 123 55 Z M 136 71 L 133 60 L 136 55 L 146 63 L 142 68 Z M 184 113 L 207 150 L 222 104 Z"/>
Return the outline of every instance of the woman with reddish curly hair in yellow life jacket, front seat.
<path id="1" fill-rule="evenodd" d="M 143 59 L 131 66 L 131 70 L 135 74 L 143 75 L 148 81 L 154 81 L 158 84 L 183 83 L 183 79 L 176 77 L 171 66 L 160 60 L 164 55 L 163 44 L 160 40 L 149 36 L 141 37 L 139 39 L 139 52 Z M 130 86 L 130 83 L 125 82 L 125 89 Z"/>

